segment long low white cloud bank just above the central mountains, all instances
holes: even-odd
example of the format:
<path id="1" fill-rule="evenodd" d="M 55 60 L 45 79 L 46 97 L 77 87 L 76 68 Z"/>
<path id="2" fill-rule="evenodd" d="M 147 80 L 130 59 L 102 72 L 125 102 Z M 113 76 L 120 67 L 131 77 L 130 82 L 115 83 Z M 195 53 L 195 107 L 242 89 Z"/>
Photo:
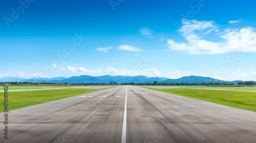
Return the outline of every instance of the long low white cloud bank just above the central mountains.
<path id="1" fill-rule="evenodd" d="M 105 69 L 96 69 L 89 70 L 83 67 L 70 67 L 67 66 L 68 71 L 73 73 L 77 73 L 79 75 L 91 75 L 91 76 L 101 76 L 101 75 L 126 75 L 126 76 L 136 76 L 136 75 L 144 75 L 148 77 L 161 76 L 161 73 L 156 68 L 145 69 L 140 71 L 134 71 L 125 68 L 113 68 L 108 67 Z"/>

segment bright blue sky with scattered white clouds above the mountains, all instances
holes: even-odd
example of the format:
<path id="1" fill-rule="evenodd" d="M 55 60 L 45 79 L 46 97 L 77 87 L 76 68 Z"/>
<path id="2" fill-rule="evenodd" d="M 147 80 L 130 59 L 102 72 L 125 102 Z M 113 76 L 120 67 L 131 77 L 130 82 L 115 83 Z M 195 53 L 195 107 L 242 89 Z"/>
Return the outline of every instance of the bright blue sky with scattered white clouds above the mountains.
<path id="1" fill-rule="evenodd" d="M 0 78 L 256 80 L 255 3 L 2 0 Z"/>

